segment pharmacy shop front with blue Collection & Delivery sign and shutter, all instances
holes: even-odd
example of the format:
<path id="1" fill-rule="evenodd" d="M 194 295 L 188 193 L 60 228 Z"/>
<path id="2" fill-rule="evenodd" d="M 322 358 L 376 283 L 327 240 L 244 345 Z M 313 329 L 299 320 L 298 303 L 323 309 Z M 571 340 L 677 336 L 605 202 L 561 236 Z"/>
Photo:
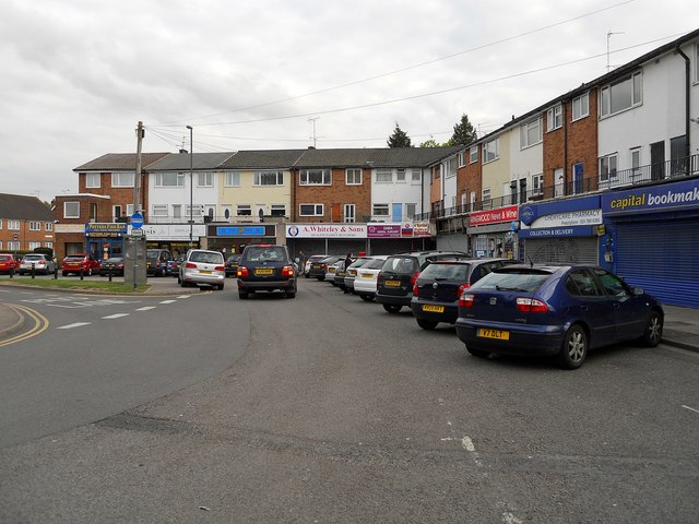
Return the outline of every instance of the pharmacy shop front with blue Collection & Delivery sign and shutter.
<path id="1" fill-rule="evenodd" d="M 519 260 L 534 263 L 600 264 L 604 233 L 600 195 L 520 207 Z"/>

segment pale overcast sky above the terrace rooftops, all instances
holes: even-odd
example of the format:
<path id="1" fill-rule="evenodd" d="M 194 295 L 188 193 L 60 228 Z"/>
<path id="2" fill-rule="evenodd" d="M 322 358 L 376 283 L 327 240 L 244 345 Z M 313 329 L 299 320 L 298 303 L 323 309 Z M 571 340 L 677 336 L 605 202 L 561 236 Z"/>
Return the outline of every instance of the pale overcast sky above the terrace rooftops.
<path id="1" fill-rule="evenodd" d="M 105 153 L 384 147 L 490 132 L 699 27 L 696 0 L 3 0 L 0 192 Z M 608 33 L 614 33 L 607 37 Z M 311 119 L 313 119 L 311 121 Z"/>

